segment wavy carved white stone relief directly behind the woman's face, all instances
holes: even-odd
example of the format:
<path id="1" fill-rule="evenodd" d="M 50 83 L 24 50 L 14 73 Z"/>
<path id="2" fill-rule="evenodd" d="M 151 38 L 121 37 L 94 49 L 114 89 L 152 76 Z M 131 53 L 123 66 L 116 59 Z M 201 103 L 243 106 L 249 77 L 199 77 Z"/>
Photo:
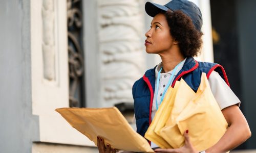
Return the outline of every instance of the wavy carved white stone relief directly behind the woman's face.
<path id="1" fill-rule="evenodd" d="M 99 50 L 103 106 L 131 102 L 132 86 L 145 62 L 142 37 L 144 19 L 139 0 L 101 0 Z"/>

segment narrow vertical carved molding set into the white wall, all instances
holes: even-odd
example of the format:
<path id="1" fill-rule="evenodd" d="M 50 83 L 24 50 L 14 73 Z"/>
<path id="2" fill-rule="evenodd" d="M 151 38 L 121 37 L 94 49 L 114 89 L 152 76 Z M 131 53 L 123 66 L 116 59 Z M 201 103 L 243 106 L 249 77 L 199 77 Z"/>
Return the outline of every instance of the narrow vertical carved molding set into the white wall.
<path id="1" fill-rule="evenodd" d="M 55 14 L 54 0 L 42 0 L 42 56 L 44 78 L 55 80 Z"/>

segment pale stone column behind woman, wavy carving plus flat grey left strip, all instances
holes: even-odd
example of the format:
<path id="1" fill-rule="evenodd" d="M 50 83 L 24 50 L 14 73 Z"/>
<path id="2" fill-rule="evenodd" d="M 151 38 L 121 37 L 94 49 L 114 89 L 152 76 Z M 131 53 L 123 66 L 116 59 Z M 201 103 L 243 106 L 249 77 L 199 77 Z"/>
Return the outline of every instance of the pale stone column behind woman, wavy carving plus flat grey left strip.
<path id="1" fill-rule="evenodd" d="M 85 3 L 88 4 L 84 6 L 87 106 L 133 103 L 132 86 L 145 70 L 143 3 L 139 0 Z"/>

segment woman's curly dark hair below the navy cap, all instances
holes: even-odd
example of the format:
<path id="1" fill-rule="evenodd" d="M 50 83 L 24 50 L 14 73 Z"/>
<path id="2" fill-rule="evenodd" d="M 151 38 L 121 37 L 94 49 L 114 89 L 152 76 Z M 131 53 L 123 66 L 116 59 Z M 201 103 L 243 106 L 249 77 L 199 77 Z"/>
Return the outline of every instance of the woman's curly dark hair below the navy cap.
<path id="1" fill-rule="evenodd" d="M 180 10 L 169 10 L 165 13 L 165 17 L 170 28 L 170 35 L 178 41 L 182 55 L 184 57 L 198 56 L 203 33 L 199 32 L 192 20 Z"/>

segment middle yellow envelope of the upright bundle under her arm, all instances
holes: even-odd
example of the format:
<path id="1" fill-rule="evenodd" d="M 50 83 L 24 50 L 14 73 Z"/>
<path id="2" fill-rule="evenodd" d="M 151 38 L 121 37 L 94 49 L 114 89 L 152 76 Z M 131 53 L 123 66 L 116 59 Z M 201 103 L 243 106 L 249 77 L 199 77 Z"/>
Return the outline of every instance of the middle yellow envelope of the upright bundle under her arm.
<path id="1" fill-rule="evenodd" d="M 162 129 L 158 132 L 158 135 L 161 136 L 165 141 L 170 142 L 169 144 L 174 148 L 180 147 L 181 144 L 177 145 L 176 143 L 171 142 L 176 141 L 177 139 L 182 140 L 181 142 L 184 140 L 183 133 L 180 133 L 178 125 L 176 124 L 176 118 L 187 106 L 189 101 L 195 97 L 195 95 L 196 93 L 186 84 L 183 79 L 181 79 L 175 99 L 168 102 L 173 104 L 173 109 L 171 110 L 172 112 L 169 112 L 165 126 L 162 127 Z"/>

